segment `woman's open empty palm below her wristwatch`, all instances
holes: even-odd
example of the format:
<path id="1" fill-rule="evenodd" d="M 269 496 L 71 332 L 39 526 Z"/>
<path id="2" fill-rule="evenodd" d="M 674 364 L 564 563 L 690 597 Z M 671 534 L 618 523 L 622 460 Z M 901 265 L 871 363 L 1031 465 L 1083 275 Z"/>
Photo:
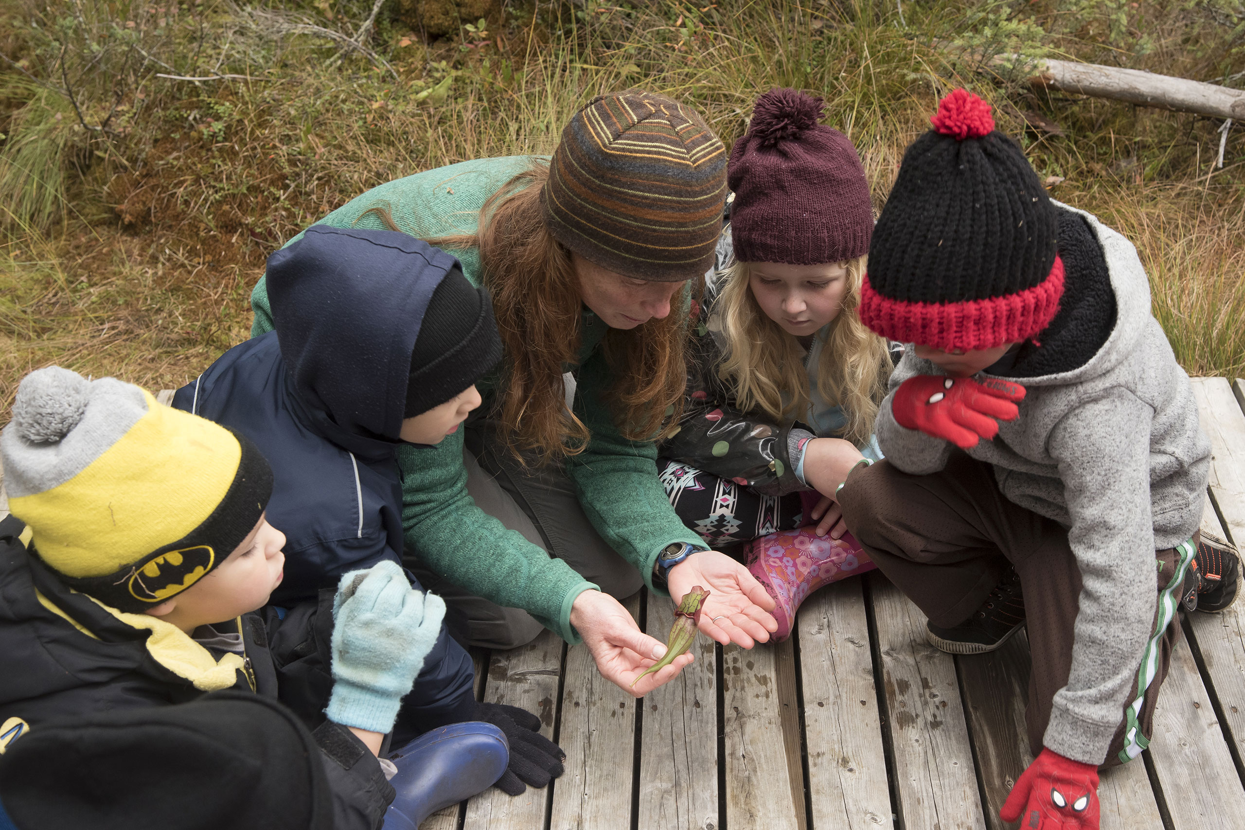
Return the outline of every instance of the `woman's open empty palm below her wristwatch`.
<path id="1" fill-rule="evenodd" d="M 701 609 L 701 633 L 723 646 L 733 642 L 752 648 L 778 631 L 778 621 L 769 613 L 774 610 L 773 599 L 747 567 L 726 554 L 700 551 L 670 569 L 670 596 L 675 602 L 696 585 L 710 590 Z"/>

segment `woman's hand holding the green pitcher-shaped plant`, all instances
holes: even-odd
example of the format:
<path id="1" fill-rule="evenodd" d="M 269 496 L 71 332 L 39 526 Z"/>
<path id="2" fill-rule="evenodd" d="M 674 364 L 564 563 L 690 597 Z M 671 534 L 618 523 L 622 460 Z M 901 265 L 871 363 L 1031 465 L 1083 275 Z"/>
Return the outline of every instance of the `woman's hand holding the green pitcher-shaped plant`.
<path id="1" fill-rule="evenodd" d="M 680 655 L 670 666 L 641 678 L 632 687 L 636 674 L 666 653 L 666 645 L 640 631 L 627 610 L 600 591 L 583 591 L 575 597 L 570 606 L 570 625 L 584 638 L 601 677 L 632 697 L 644 697 L 669 683 L 692 662 L 690 652 Z"/>

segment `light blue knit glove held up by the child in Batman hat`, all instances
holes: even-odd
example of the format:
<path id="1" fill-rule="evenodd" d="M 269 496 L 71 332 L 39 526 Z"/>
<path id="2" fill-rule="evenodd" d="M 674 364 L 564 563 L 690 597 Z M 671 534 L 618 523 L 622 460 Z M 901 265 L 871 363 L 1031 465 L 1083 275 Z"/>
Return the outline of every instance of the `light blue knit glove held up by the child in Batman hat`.
<path id="1" fill-rule="evenodd" d="M 444 601 L 412 589 L 396 562 L 342 576 L 332 600 L 329 719 L 369 732 L 392 729 L 444 616 Z"/>

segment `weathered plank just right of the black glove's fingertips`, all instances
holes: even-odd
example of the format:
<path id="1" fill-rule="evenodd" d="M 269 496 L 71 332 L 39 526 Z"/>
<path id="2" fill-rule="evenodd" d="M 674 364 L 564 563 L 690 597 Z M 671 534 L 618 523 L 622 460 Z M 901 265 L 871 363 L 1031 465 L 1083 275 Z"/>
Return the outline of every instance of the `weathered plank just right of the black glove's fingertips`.
<path id="1" fill-rule="evenodd" d="M 622 605 L 639 620 L 639 592 Z M 630 826 L 636 699 L 601 677 L 583 645 L 566 651 L 561 689 L 558 745 L 566 772 L 553 785 L 549 828 Z"/>

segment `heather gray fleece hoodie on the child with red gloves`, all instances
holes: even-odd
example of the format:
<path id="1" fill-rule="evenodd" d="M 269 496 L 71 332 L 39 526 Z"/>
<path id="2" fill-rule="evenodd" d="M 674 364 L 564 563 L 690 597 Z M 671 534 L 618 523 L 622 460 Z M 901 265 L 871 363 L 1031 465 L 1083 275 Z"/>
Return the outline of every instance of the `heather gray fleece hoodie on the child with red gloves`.
<path id="1" fill-rule="evenodd" d="M 969 454 L 994 465 L 1003 495 L 1068 529 L 1081 605 L 1072 672 L 1055 694 L 1043 743 L 1066 758 L 1101 764 L 1152 635 L 1154 551 L 1198 529 L 1210 443 L 1198 426 L 1189 377 L 1150 315 L 1137 250 L 1094 217 L 1074 213 L 1086 218 L 1106 258 L 1116 325 L 1098 351 L 1069 371 L 1008 377 L 1027 389 L 1020 417 L 1001 422 L 998 436 Z M 942 469 L 952 445 L 895 422 L 895 388 L 915 375 L 942 372 L 909 348 L 890 378 L 876 429 L 889 462 L 921 475 Z"/>

